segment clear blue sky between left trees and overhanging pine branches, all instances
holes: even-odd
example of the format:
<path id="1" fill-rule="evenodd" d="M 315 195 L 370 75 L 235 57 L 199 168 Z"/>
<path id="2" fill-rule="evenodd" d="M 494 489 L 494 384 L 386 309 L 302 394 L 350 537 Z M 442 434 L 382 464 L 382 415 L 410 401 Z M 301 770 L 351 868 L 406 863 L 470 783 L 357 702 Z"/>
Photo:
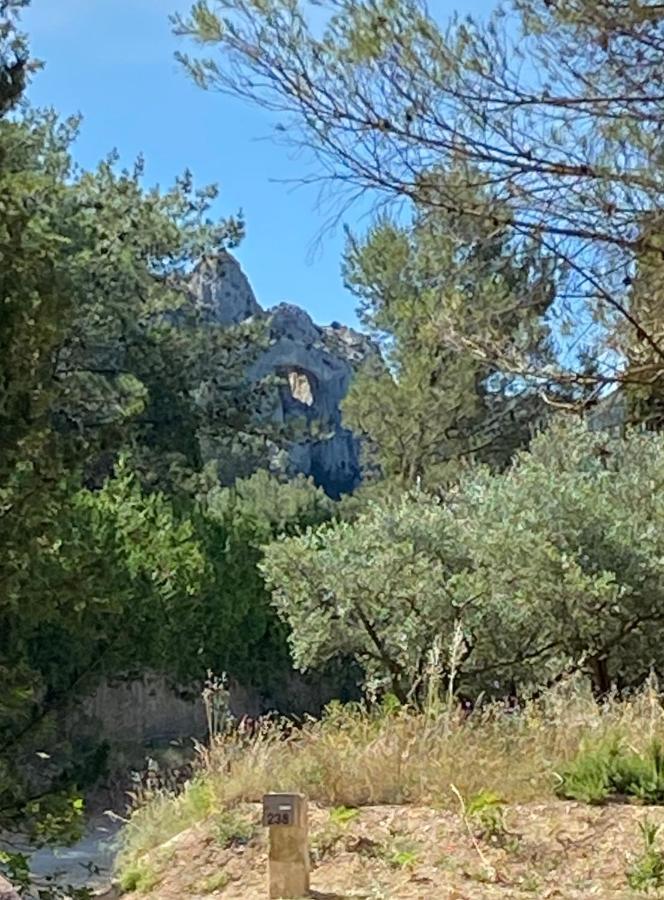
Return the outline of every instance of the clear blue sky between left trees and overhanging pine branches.
<path id="1" fill-rule="evenodd" d="M 61 114 L 81 113 L 77 161 L 94 166 L 114 148 L 123 164 L 139 153 L 149 183 L 170 184 L 185 168 L 199 184 L 215 182 L 220 214 L 242 208 L 247 237 L 237 256 L 259 302 L 303 306 L 321 323 L 354 324 L 355 301 L 340 274 L 343 237 L 327 235 L 316 189 L 293 190 L 279 179 L 302 174 L 302 162 L 269 139 L 266 113 L 196 88 L 173 59 L 182 42 L 168 14 L 190 0 L 33 0 L 23 17 L 33 54 L 46 63 L 32 102 Z M 454 9 L 483 13 L 493 0 L 432 0 L 445 19 Z M 352 219 L 349 224 L 353 225 Z"/>

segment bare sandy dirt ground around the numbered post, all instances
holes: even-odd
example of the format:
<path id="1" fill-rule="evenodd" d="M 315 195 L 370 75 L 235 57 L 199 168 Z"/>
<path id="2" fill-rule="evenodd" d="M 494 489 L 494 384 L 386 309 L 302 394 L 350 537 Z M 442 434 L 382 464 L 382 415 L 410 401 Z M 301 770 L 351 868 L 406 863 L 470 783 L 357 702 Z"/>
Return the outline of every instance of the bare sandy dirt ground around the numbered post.
<path id="1" fill-rule="evenodd" d="M 242 814 L 254 837 L 223 848 L 214 822 L 156 851 L 149 891 L 126 900 L 261 900 L 266 835 L 258 806 Z M 482 900 L 636 898 L 626 872 L 642 850 L 639 822 L 664 825 L 664 807 L 548 803 L 511 807 L 493 839 L 461 815 L 410 806 L 344 814 L 310 805 L 311 896 Z M 657 894 L 649 894 L 653 897 Z"/>

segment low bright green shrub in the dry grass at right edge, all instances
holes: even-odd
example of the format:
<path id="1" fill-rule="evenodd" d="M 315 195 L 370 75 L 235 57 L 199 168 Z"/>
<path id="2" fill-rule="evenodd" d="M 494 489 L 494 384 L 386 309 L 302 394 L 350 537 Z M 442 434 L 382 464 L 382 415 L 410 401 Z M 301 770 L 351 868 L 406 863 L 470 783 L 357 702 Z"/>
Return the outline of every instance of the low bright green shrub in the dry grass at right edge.
<path id="1" fill-rule="evenodd" d="M 643 753 L 616 738 L 582 748 L 560 773 L 558 793 L 584 803 L 603 803 L 616 796 L 645 804 L 664 800 L 664 749 L 653 739 Z"/>

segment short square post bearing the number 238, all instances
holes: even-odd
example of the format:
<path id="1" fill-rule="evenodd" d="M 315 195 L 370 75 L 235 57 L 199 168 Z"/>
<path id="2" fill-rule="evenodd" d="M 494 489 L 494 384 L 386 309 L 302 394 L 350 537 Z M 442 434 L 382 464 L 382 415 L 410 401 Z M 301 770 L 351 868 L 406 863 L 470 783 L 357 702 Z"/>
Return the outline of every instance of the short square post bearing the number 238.
<path id="1" fill-rule="evenodd" d="M 309 896 L 309 825 L 302 794 L 266 794 L 263 825 L 269 829 L 268 878 L 271 900 Z"/>

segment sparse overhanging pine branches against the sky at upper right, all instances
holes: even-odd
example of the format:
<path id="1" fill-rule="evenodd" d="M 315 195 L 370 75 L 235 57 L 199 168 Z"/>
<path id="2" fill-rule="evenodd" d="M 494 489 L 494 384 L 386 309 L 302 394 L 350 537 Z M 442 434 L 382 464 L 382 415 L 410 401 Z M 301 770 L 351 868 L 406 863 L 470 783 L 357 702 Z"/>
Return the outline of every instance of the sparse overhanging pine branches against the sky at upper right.
<path id="1" fill-rule="evenodd" d="M 277 138 L 313 152 L 335 212 L 345 188 L 381 212 L 468 217 L 485 246 L 505 230 L 555 261 L 555 360 L 505 339 L 492 290 L 448 309 L 447 350 L 583 401 L 621 380 L 634 341 L 648 359 L 630 381 L 660 384 L 661 316 L 653 327 L 632 303 L 635 262 L 661 255 L 649 233 L 664 172 L 658 4 L 517 0 L 448 22 L 424 0 L 316 5 L 314 22 L 305 0 L 201 0 L 174 19 L 194 48 L 181 61 L 200 86 L 278 110 Z"/>

